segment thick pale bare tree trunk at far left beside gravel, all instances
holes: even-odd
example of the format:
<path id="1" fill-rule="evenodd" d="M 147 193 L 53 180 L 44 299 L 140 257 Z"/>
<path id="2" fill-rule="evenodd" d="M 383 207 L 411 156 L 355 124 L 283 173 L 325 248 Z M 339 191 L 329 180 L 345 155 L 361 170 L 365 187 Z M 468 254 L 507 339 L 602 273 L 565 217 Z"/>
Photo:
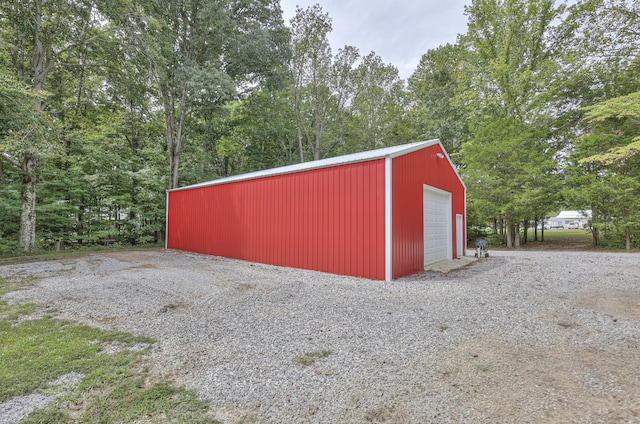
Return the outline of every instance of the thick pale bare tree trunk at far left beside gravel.
<path id="1" fill-rule="evenodd" d="M 22 209 L 20 247 L 30 252 L 36 243 L 36 155 L 25 153 L 22 160 Z"/>

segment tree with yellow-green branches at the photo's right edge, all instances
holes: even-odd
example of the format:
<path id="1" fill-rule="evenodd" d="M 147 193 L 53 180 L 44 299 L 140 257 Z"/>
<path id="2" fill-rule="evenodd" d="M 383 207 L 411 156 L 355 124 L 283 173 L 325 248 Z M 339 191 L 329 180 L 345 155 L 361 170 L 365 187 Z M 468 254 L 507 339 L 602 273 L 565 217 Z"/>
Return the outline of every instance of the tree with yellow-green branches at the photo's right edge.
<path id="1" fill-rule="evenodd" d="M 629 248 L 637 234 L 637 91 L 640 5 L 585 0 L 569 9 L 573 42 L 563 56 L 568 201 L 593 213 L 593 244 Z M 635 221 L 634 221 L 635 220 Z"/>

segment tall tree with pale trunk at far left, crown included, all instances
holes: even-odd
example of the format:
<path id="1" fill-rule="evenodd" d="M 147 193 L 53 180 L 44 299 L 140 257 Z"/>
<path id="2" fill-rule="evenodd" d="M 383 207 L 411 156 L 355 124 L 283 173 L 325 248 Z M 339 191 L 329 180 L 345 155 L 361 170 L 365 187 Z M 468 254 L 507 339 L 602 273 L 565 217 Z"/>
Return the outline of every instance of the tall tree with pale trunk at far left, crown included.
<path id="1" fill-rule="evenodd" d="M 22 128 L 20 137 L 14 138 L 1 155 L 22 171 L 20 245 L 29 251 L 35 245 L 38 158 L 56 145 L 57 121 L 51 115 L 54 111 L 49 108 L 48 96 L 54 95 L 60 85 L 52 84 L 51 76 L 58 72 L 63 80 L 65 69 L 84 66 L 74 60 L 73 54 L 100 42 L 113 28 L 96 2 L 89 0 L 3 2 L 0 25 L 8 61 L 18 80 L 34 93 L 31 115 L 39 122 Z"/>

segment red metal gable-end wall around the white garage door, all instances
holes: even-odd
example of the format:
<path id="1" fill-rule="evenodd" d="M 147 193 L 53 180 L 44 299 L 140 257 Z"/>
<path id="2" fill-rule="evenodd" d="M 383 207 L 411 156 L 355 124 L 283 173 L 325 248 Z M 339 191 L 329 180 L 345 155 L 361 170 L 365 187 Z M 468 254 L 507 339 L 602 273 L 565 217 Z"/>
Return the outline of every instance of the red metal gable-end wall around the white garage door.
<path id="1" fill-rule="evenodd" d="M 456 252 L 456 214 L 464 216 L 464 186 L 449 161 L 438 158 L 439 145 L 393 159 L 392 163 L 392 261 L 393 278 L 424 269 L 422 196 L 423 184 L 451 193 L 453 257 Z M 462 255 L 462 252 L 460 252 Z"/>

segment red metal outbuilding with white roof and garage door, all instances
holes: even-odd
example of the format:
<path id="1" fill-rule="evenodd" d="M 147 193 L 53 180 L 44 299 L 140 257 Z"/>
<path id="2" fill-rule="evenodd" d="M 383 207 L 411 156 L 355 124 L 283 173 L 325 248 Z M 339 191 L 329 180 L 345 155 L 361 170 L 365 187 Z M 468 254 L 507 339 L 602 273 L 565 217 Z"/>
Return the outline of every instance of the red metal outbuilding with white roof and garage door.
<path id="1" fill-rule="evenodd" d="M 167 192 L 167 248 L 392 280 L 464 255 L 465 186 L 438 140 Z"/>

